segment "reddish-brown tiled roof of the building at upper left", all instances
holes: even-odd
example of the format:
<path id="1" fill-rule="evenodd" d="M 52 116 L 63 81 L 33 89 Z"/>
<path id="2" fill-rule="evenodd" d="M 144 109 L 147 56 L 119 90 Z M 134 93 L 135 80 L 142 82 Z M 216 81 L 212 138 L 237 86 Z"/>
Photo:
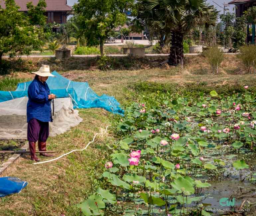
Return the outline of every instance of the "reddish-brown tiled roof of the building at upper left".
<path id="1" fill-rule="evenodd" d="M 27 11 L 27 3 L 32 2 L 36 6 L 39 0 L 15 0 L 20 7 L 19 11 Z M 72 11 L 72 8 L 66 4 L 66 0 L 45 0 L 47 6 L 46 11 Z M 0 6 L 5 8 L 5 1 L 0 0 Z"/>

